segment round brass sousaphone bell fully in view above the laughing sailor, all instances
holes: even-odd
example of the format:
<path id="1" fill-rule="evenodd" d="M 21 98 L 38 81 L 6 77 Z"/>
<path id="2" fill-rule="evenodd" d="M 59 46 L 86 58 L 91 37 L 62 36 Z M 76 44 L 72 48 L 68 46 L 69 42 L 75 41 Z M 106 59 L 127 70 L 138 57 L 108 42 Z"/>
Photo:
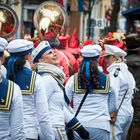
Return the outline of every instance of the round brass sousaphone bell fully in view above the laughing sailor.
<path id="1" fill-rule="evenodd" d="M 64 28 L 65 24 L 65 9 L 57 2 L 43 2 L 35 11 L 34 25 L 42 36 L 48 31 L 57 35 Z"/>

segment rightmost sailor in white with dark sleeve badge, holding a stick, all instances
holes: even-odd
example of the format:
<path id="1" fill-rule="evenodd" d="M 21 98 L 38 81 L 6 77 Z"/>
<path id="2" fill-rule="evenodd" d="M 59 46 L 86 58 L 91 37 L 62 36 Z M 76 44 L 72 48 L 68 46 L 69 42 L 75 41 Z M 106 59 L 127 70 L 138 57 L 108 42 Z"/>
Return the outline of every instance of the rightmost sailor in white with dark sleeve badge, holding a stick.
<path id="1" fill-rule="evenodd" d="M 125 140 L 128 129 L 133 119 L 132 96 L 135 88 L 135 80 L 124 63 L 125 51 L 115 45 L 104 45 L 105 61 L 110 79 L 116 84 L 116 94 L 118 96 L 117 115 L 114 117 L 110 140 Z"/>

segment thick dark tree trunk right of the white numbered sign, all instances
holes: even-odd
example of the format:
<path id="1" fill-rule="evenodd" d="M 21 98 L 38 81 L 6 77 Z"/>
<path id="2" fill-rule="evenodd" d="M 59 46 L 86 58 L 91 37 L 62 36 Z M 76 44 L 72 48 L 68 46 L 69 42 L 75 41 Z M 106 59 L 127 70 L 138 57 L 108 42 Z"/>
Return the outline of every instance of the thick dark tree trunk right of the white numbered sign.
<path id="1" fill-rule="evenodd" d="M 110 20 L 110 31 L 116 32 L 117 31 L 117 20 L 118 20 L 118 13 L 120 11 L 120 0 L 114 0 L 111 20 Z"/>

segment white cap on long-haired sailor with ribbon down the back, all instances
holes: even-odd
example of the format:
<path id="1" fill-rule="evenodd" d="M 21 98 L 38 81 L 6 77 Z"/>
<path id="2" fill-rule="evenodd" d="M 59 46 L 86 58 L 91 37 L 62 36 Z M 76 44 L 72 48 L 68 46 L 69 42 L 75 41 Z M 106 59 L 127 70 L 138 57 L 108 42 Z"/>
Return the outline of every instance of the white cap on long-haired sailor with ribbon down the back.
<path id="1" fill-rule="evenodd" d="M 100 55 L 100 52 L 102 51 L 102 48 L 100 45 L 86 45 L 81 50 L 83 57 L 97 57 Z"/>

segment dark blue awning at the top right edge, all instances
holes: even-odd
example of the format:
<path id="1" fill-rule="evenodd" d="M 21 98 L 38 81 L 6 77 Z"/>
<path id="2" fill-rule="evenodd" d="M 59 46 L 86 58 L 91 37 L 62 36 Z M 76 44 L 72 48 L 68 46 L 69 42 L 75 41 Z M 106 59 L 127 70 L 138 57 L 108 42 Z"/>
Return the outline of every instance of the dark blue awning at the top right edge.
<path id="1" fill-rule="evenodd" d="M 140 6 L 122 12 L 123 16 L 140 16 Z"/>

